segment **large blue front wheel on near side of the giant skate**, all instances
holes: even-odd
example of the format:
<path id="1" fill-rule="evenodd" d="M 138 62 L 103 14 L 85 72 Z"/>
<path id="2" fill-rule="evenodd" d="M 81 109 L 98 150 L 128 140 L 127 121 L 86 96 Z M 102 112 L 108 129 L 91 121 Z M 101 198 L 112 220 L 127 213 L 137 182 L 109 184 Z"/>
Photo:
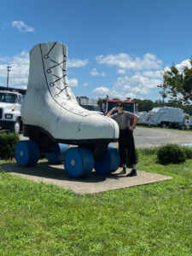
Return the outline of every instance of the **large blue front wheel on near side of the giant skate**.
<path id="1" fill-rule="evenodd" d="M 85 177 L 93 170 L 93 155 L 87 148 L 69 148 L 64 157 L 64 166 L 69 177 Z"/>

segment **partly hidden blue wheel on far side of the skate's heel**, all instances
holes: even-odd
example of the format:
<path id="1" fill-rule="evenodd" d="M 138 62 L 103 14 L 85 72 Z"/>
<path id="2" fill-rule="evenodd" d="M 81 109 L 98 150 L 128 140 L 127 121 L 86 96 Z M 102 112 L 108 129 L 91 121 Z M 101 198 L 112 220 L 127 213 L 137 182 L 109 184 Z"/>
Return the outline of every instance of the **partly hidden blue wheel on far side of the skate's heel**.
<path id="1" fill-rule="evenodd" d="M 52 152 L 46 153 L 45 157 L 47 160 L 49 160 L 50 164 L 54 165 L 54 164 L 61 163 L 67 152 L 67 149 L 68 149 L 67 144 L 55 143 L 51 148 Z"/>

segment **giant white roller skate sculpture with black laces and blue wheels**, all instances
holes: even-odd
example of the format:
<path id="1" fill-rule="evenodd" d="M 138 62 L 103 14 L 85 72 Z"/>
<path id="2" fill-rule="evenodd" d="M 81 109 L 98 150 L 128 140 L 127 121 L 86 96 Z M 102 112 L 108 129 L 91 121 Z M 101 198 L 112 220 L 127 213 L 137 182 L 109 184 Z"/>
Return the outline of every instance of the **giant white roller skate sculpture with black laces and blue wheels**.
<path id="1" fill-rule="evenodd" d="M 34 166 L 40 153 L 49 163 L 64 161 L 70 177 L 115 172 L 119 153 L 108 147 L 117 142 L 119 126 L 113 119 L 81 108 L 67 84 L 67 46 L 38 44 L 30 53 L 25 100 L 21 107 L 24 136 L 15 148 L 19 166 Z M 67 144 L 79 147 L 68 148 Z"/>

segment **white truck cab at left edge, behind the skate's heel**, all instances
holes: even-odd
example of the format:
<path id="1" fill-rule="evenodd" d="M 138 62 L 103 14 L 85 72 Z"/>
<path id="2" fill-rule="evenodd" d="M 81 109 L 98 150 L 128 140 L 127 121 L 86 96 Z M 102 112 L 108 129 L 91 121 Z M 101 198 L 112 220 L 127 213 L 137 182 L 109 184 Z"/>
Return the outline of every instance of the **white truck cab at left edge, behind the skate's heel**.
<path id="1" fill-rule="evenodd" d="M 2 129 L 20 133 L 20 128 L 23 126 L 20 115 L 21 102 L 20 93 L 0 90 L 0 127 Z"/>

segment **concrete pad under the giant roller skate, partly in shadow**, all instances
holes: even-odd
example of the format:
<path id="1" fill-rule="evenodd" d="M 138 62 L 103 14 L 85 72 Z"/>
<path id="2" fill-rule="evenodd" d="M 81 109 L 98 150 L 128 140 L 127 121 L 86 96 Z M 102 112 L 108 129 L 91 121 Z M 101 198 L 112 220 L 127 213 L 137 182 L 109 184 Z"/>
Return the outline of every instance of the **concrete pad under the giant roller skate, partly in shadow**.
<path id="1" fill-rule="evenodd" d="M 72 189 L 75 193 L 101 193 L 112 189 L 122 189 L 172 179 L 172 177 L 141 171 L 137 171 L 137 177 L 118 175 L 122 168 L 108 175 L 97 174 L 93 170 L 88 177 L 73 179 L 67 176 L 63 165 L 49 165 L 48 161 L 39 161 L 33 167 L 20 167 L 17 164 L 4 164 L 1 167 L 5 172 L 32 179 L 34 182 L 51 183 L 64 189 Z"/>

